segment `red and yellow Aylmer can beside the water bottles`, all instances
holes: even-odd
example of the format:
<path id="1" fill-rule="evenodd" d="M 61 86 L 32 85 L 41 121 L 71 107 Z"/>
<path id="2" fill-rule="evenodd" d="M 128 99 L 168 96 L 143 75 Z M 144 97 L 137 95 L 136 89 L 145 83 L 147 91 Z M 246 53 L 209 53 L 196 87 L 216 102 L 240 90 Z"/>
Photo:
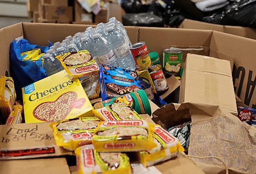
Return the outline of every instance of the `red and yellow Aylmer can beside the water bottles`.
<path id="1" fill-rule="evenodd" d="M 151 66 L 151 59 L 145 42 L 137 42 L 131 45 L 130 50 L 133 54 L 137 70 L 145 70 Z"/>

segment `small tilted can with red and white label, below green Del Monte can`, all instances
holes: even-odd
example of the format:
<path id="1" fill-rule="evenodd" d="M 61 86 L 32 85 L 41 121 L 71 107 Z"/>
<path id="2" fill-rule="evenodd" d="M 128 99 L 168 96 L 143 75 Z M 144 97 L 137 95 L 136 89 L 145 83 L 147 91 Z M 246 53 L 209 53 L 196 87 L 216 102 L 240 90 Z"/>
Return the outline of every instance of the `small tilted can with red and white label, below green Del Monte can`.
<path id="1" fill-rule="evenodd" d="M 151 72 L 150 76 L 158 93 L 164 93 L 169 88 L 162 69 Z"/>

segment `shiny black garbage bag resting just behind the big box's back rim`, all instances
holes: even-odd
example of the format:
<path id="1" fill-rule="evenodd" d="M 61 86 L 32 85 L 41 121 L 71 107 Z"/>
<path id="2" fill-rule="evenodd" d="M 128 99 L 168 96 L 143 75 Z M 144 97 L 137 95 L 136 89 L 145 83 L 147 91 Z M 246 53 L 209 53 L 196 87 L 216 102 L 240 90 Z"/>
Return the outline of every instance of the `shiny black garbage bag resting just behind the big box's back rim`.
<path id="1" fill-rule="evenodd" d="M 124 26 L 163 27 L 162 18 L 152 13 L 126 13 L 122 16 Z"/>

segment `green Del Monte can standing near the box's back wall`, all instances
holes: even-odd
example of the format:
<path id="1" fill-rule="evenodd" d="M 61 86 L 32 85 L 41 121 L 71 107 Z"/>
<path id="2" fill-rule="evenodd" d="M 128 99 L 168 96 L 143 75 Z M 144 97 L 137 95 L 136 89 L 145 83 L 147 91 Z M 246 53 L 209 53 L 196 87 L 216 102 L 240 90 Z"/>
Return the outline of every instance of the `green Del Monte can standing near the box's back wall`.
<path id="1" fill-rule="evenodd" d="M 179 75 L 182 63 L 182 51 L 177 48 L 164 49 L 163 69 L 166 74 Z"/>

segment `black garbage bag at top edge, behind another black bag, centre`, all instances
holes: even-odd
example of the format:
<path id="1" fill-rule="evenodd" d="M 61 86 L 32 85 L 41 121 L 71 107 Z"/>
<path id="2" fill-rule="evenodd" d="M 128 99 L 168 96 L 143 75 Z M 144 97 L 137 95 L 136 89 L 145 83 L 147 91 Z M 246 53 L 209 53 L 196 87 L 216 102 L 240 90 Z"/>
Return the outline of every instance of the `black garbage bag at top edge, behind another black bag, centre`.
<path id="1" fill-rule="evenodd" d="M 140 0 L 126 0 L 122 3 L 125 13 L 146 13 L 148 5 L 143 5 Z"/>

